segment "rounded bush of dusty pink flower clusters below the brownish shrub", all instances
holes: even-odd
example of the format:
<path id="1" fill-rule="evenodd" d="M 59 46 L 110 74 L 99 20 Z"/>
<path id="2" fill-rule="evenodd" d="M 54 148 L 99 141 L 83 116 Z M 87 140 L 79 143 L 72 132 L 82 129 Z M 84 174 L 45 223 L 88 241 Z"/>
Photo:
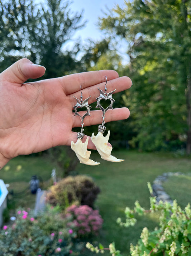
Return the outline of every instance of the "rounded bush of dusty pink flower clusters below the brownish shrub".
<path id="1" fill-rule="evenodd" d="M 78 236 L 97 234 L 102 227 L 103 219 L 99 211 L 87 205 L 72 205 L 66 212 L 66 216 L 70 219 L 68 227 L 73 228 Z"/>

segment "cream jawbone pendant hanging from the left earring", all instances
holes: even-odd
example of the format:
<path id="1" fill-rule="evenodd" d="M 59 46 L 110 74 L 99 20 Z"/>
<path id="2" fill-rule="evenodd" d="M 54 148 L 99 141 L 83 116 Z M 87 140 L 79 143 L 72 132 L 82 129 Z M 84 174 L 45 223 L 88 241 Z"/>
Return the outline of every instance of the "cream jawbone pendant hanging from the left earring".
<path id="1" fill-rule="evenodd" d="M 77 158 L 80 160 L 80 163 L 85 165 L 99 165 L 99 162 L 94 162 L 90 159 L 91 151 L 87 151 L 88 137 L 83 143 L 82 140 L 78 139 L 76 143 L 71 142 L 71 148 L 76 153 Z"/>

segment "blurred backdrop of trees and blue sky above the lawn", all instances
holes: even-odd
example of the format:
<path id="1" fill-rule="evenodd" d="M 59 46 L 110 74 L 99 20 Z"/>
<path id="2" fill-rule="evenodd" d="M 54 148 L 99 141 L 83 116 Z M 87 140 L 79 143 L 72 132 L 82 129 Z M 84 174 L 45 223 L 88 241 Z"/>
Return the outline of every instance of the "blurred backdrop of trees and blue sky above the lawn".
<path id="1" fill-rule="evenodd" d="M 110 139 L 190 154 L 190 15 L 189 0 L 1 0 L 0 71 L 23 57 L 46 67 L 43 79 L 115 69 L 133 81 L 114 95 L 131 115 Z"/>

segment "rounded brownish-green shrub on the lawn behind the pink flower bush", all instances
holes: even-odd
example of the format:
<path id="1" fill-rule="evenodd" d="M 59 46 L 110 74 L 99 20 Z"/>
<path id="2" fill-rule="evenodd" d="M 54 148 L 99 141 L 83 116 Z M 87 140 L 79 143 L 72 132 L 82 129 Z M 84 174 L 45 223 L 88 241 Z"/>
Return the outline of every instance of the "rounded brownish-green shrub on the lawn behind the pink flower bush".
<path id="1" fill-rule="evenodd" d="M 53 206 L 57 204 L 63 208 L 71 203 L 94 207 L 94 201 L 100 188 L 92 178 L 85 175 L 68 176 L 53 185 L 47 193 L 47 202 Z"/>

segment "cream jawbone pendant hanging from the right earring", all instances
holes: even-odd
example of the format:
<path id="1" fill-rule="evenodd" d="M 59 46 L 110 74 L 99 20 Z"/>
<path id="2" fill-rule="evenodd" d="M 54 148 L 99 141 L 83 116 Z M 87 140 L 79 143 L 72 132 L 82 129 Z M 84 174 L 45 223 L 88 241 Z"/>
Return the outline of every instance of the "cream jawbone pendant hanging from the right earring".
<path id="1" fill-rule="evenodd" d="M 91 140 L 96 146 L 98 153 L 100 154 L 101 158 L 110 162 L 122 162 L 124 159 L 117 159 L 114 156 L 111 156 L 112 147 L 108 146 L 110 131 L 104 137 L 100 131 L 95 136 L 94 133 L 91 135 Z"/>

